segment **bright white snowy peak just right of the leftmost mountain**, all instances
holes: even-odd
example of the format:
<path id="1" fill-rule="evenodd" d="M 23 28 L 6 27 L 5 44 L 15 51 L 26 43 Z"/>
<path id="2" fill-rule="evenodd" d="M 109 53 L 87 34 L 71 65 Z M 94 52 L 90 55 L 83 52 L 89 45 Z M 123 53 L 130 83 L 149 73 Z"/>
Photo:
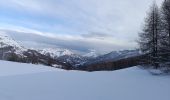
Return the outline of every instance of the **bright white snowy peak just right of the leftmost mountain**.
<path id="1" fill-rule="evenodd" d="M 70 50 L 60 49 L 60 48 L 45 48 L 45 49 L 37 50 L 37 51 L 40 52 L 43 55 L 50 55 L 53 58 L 74 54 Z"/>

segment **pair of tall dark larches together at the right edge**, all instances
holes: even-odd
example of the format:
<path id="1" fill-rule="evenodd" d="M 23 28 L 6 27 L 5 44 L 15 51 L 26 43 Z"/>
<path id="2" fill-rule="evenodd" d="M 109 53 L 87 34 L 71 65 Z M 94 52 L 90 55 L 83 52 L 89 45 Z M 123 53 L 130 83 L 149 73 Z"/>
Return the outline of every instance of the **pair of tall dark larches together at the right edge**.
<path id="1" fill-rule="evenodd" d="M 154 2 L 150 7 L 142 32 L 139 33 L 139 45 L 147 58 L 146 66 L 170 68 L 170 0 L 164 0 L 159 8 Z"/>

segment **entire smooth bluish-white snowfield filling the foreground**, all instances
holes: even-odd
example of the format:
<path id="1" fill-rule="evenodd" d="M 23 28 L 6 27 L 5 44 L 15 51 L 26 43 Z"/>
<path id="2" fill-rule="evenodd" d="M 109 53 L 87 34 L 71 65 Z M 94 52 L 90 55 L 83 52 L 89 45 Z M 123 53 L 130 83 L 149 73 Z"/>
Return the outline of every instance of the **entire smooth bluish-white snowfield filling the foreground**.
<path id="1" fill-rule="evenodd" d="M 0 100 L 170 100 L 169 84 L 137 67 L 88 73 L 0 61 Z"/>

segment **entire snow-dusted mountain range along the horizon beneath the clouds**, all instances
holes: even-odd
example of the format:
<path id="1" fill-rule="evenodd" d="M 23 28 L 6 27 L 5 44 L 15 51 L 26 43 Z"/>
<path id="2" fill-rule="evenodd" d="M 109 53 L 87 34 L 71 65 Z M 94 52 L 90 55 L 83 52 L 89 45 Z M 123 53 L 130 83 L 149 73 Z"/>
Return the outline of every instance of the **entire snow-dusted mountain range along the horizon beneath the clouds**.
<path id="1" fill-rule="evenodd" d="M 40 63 L 44 65 L 62 65 L 66 67 L 80 67 L 84 65 L 115 61 L 140 55 L 139 50 L 113 51 L 100 55 L 90 50 L 85 55 L 73 53 L 68 49 L 45 48 L 42 50 L 26 49 L 7 34 L 0 32 L 0 59 L 26 63 Z"/>

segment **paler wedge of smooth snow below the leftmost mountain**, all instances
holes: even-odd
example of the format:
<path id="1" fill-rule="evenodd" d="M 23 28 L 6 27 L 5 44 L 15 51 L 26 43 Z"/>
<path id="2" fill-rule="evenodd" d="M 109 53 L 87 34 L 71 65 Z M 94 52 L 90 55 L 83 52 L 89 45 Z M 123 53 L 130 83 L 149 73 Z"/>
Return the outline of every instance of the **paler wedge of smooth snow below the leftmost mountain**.
<path id="1" fill-rule="evenodd" d="M 24 64 L 0 60 L 0 70 L 0 76 L 13 76 L 49 71 L 60 71 L 62 69 L 54 69 L 52 67 L 43 65 Z"/>

